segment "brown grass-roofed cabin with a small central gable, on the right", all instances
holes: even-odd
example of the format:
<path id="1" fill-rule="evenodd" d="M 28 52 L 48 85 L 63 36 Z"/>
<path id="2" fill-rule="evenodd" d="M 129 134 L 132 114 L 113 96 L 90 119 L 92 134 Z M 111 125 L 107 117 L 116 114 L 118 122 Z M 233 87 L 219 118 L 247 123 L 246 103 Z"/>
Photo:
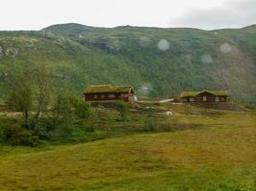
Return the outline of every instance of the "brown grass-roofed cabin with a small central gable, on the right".
<path id="1" fill-rule="evenodd" d="M 183 92 L 180 95 L 182 102 L 227 102 L 229 94 L 227 91 L 201 91 L 201 92 Z"/>

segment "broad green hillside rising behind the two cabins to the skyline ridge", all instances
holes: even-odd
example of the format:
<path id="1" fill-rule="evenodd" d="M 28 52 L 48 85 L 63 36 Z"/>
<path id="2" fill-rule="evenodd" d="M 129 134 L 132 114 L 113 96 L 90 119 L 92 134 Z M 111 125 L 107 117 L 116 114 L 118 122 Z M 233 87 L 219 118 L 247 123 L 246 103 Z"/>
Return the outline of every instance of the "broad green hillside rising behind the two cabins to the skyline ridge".
<path id="1" fill-rule="evenodd" d="M 12 68 L 48 65 L 56 87 L 80 96 L 87 84 L 132 84 L 140 95 L 229 90 L 256 99 L 256 27 L 200 31 L 55 25 L 0 32 L 0 94 Z"/>

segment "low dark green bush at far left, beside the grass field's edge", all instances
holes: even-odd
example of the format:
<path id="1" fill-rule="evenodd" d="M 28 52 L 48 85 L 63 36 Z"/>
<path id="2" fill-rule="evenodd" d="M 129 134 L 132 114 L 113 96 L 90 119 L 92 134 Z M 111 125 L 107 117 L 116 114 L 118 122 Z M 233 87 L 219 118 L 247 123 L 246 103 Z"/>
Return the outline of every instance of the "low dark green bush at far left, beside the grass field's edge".
<path id="1" fill-rule="evenodd" d="M 36 146 L 38 144 L 37 137 L 34 137 L 27 129 L 17 125 L 5 128 L 3 136 L 12 145 Z"/>

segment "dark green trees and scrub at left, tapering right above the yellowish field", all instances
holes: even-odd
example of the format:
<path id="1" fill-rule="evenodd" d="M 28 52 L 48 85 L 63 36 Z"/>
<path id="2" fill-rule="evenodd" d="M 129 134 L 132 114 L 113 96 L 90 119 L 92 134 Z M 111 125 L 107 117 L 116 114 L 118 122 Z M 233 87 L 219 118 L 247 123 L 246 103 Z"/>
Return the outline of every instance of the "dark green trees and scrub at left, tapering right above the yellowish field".
<path id="1" fill-rule="evenodd" d="M 2 142 L 12 145 L 78 143 L 146 132 L 170 132 L 198 128 L 166 120 L 159 104 L 124 101 L 92 107 L 82 99 L 53 88 L 53 72 L 47 66 L 12 68 L 2 120 Z M 161 114 L 163 113 L 163 114 Z"/>

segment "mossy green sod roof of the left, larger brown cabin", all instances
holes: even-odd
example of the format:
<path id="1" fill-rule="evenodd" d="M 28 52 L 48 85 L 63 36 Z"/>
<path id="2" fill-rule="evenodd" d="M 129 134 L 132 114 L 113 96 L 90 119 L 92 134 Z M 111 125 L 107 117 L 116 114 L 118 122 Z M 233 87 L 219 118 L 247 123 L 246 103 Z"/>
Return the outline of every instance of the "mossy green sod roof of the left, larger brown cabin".
<path id="1" fill-rule="evenodd" d="M 92 85 L 85 89 L 84 94 L 129 92 L 134 93 L 132 86 Z"/>

